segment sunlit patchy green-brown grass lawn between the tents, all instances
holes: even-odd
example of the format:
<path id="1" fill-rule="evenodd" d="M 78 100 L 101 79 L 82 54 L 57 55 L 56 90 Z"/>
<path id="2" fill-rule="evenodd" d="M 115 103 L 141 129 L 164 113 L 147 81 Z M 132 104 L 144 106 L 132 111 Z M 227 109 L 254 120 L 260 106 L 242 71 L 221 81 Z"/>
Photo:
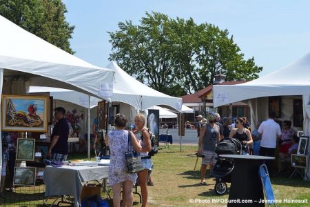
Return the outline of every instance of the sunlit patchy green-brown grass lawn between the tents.
<path id="1" fill-rule="evenodd" d="M 154 186 L 148 187 L 148 206 L 227 206 L 225 199 L 228 199 L 228 193 L 223 196 L 214 193 L 214 178 L 206 176 L 207 186 L 200 186 L 201 159 L 198 160 L 196 170 L 194 170 L 196 162 L 194 154 L 197 146 L 183 146 L 182 152 L 180 152 L 179 146 L 170 146 L 168 149 L 161 147 L 162 149 L 153 157 L 152 180 Z M 70 155 L 68 159 L 85 159 L 85 157 L 87 157 L 86 154 Z M 208 171 L 207 175 L 209 175 Z M 278 204 L 278 206 L 310 206 L 309 181 L 302 181 L 301 177 L 292 179 L 273 177 L 271 182 L 277 200 L 308 200 L 306 204 L 285 203 Z M 138 192 L 140 192 L 139 188 Z M 101 196 L 107 198 L 107 194 L 102 193 Z M 14 193 L 14 197 L 18 198 L 19 194 Z M 134 206 L 140 206 L 137 195 L 134 195 Z"/>

